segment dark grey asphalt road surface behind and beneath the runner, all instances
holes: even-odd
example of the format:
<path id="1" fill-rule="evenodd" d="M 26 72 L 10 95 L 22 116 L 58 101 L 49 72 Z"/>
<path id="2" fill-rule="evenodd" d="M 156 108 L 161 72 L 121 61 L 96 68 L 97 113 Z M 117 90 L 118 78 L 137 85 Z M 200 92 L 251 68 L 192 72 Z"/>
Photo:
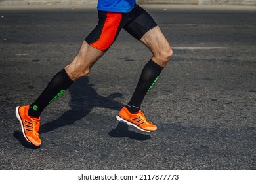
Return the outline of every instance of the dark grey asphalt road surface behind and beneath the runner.
<path id="1" fill-rule="evenodd" d="M 256 169 L 256 8 L 145 7 L 173 46 L 142 110 L 142 133 L 116 114 L 152 54 L 122 31 L 93 70 L 22 136 L 32 103 L 95 27 L 94 8 L 0 9 L 0 169 Z"/>

